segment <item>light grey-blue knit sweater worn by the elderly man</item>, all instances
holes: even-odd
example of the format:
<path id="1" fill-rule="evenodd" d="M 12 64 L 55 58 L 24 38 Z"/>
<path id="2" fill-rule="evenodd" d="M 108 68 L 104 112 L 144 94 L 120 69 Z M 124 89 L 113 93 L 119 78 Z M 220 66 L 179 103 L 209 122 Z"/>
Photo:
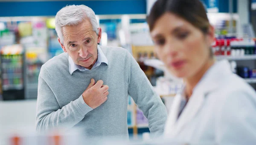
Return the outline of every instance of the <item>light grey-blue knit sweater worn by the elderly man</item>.
<path id="1" fill-rule="evenodd" d="M 128 95 L 148 118 L 151 134 L 163 133 L 167 112 L 160 97 L 131 54 L 120 47 L 102 47 L 108 65 L 69 73 L 68 54 L 45 63 L 39 75 L 36 128 L 83 129 L 88 136 L 127 136 Z M 108 100 L 96 109 L 84 103 L 81 94 L 90 79 L 109 86 Z"/>

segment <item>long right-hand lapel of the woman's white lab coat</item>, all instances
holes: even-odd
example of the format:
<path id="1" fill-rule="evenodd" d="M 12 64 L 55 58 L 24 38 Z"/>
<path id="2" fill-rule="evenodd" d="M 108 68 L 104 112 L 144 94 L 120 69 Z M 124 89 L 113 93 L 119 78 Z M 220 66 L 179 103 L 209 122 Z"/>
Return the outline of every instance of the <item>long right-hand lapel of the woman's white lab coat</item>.
<path id="1" fill-rule="evenodd" d="M 198 85 L 195 86 L 195 89 L 193 89 L 193 94 L 189 99 L 189 102 L 177 120 L 174 135 L 178 134 L 184 128 L 184 126 L 196 116 L 198 111 L 203 106 L 204 100 L 208 93 L 218 89 L 218 86 L 221 83 L 219 78 L 224 78 L 224 76 L 227 76 L 226 74 L 232 74 L 230 65 L 226 60 L 216 62 L 216 64 L 214 64 L 207 71 Z M 180 105 L 180 103 L 177 104 Z M 179 107 L 180 106 L 177 106 L 177 111 L 179 110 Z"/>

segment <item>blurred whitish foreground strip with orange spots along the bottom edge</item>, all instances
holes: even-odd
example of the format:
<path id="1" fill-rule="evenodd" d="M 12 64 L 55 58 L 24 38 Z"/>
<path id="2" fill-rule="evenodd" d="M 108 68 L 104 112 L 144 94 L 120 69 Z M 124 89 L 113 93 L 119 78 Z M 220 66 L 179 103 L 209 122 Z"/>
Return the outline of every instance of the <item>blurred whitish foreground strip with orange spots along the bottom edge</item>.
<path id="1" fill-rule="evenodd" d="M 177 142 L 175 140 L 162 138 L 151 139 L 148 134 L 144 134 L 143 139 L 131 139 L 130 141 L 123 140 L 122 137 L 88 138 L 78 128 L 68 131 L 58 129 L 40 134 L 29 129 L 20 128 L 9 131 L 5 135 L 4 139 L 0 140 L 0 145 L 188 145 L 187 143 Z"/>

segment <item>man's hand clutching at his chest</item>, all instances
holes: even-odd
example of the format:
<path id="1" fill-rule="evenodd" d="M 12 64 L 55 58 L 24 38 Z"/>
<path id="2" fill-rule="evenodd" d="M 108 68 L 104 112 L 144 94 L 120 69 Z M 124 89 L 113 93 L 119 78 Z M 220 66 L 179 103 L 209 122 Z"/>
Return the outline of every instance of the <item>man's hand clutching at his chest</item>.
<path id="1" fill-rule="evenodd" d="M 95 84 L 95 80 L 93 78 L 91 79 L 87 89 L 82 94 L 84 102 L 92 109 L 95 109 L 104 103 L 108 99 L 107 95 L 108 86 L 103 85 L 102 80 L 97 81 Z"/>

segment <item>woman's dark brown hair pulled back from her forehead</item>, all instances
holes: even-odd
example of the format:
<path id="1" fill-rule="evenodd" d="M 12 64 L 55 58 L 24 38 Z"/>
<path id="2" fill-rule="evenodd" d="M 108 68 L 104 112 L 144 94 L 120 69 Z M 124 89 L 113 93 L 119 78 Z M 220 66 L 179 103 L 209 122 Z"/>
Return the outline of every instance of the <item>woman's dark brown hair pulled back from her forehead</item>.
<path id="1" fill-rule="evenodd" d="M 168 12 L 190 22 L 203 33 L 209 30 L 207 12 L 200 0 L 157 0 L 147 17 L 150 31 L 153 30 L 155 22 Z"/>

